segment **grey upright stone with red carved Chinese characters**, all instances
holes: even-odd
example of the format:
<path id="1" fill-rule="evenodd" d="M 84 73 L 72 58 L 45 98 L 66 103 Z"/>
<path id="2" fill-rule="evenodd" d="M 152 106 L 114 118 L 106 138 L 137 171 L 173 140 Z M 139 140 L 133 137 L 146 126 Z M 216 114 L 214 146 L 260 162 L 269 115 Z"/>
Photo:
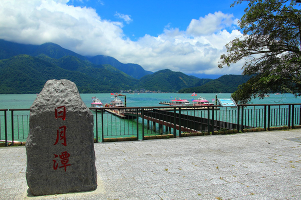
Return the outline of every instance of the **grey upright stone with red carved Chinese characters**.
<path id="1" fill-rule="evenodd" d="M 45 83 L 30 107 L 26 141 L 26 179 L 33 195 L 96 189 L 93 122 L 75 83 Z"/>

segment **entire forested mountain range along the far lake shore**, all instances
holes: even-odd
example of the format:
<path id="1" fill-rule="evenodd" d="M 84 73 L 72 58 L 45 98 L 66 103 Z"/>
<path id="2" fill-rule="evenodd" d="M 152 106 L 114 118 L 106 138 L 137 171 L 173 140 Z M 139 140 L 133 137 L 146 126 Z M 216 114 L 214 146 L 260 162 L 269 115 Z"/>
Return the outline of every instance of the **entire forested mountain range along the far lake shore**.
<path id="1" fill-rule="evenodd" d="M 39 93 L 49 79 L 69 79 L 80 93 L 140 89 L 163 92 L 234 92 L 248 77 L 198 78 L 164 69 L 153 73 L 134 63 L 87 57 L 55 43 L 20 44 L 0 39 L 0 93 Z"/>

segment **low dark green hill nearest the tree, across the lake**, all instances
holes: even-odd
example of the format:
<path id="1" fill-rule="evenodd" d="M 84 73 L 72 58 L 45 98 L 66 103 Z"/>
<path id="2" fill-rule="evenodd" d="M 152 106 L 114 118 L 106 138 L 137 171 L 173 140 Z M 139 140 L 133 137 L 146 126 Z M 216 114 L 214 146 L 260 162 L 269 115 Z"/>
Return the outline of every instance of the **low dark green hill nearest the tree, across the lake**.
<path id="1" fill-rule="evenodd" d="M 180 93 L 233 93 L 238 85 L 246 82 L 250 77 L 243 75 L 223 75 L 217 79 L 211 80 L 206 84 L 181 89 Z"/>

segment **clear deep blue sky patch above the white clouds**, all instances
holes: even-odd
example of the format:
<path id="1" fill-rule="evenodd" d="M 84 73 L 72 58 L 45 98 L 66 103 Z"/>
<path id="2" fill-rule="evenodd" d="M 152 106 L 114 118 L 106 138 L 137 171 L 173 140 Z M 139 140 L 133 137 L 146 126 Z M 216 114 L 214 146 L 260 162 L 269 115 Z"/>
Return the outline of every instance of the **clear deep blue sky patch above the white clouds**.
<path id="1" fill-rule="evenodd" d="M 126 36 L 137 40 L 145 34 L 158 36 L 166 26 L 186 30 L 192 19 L 223 11 L 241 18 L 242 6 L 230 7 L 234 0 L 73 0 L 68 4 L 96 9 L 103 19 L 121 21 Z M 121 14 L 121 16 L 120 16 Z M 123 20 L 127 15 L 129 21 Z"/>

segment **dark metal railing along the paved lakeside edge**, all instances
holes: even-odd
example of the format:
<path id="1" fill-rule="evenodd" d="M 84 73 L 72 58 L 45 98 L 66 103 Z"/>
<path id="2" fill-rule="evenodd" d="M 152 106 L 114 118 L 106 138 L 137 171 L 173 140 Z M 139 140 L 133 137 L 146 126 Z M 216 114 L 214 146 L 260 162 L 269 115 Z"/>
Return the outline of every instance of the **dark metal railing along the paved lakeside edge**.
<path id="1" fill-rule="evenodd" d="M 126 141 L 144 136 L 221 130 L 271 130 L 301 125 L 301 103 L 216 106 L 156 106 L 90 108 L 94 114 L 94 139 Z M 30 109 L 0 109 L 0 142 L 24 142 L 29 133 Z"/>

